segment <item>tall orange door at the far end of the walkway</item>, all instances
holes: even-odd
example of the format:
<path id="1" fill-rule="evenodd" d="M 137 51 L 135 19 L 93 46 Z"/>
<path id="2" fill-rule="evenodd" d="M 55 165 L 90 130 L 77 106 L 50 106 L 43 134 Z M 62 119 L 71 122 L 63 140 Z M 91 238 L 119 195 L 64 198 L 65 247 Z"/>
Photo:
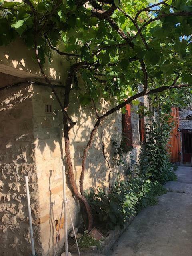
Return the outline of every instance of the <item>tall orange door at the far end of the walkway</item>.
<path id="1" fill-rule="evenodd" d="M 172 108 L 171 112 L 172 118 L 170 118 L 170 123 L 174 122 L 174 127 L 170 134 L 169 142 L 169 152 L 170 152 L 170 161 L 171 162 L 180 162 L 181 161 L 181 141 L 179 133 L 179 108 Z"/>

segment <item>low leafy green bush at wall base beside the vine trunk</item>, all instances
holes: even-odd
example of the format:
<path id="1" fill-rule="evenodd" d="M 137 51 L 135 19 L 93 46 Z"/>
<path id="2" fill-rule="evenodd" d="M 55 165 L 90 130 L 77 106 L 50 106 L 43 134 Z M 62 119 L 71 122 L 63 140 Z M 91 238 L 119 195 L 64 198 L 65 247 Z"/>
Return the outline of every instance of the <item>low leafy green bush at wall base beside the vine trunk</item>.
<path id="1" fill-rule="evenodd" d="M 87 194 L 92 207 L 94 220 L 106 229 L 124 226 L 126 220 L 134 216 L 141 208 L 157 203 L 156 196 L 166 193 L 166 189 L 158 182 L 151 182 L 144 177 L 132 180 L 116 181 L 107 193 L 100 189 Z"/>

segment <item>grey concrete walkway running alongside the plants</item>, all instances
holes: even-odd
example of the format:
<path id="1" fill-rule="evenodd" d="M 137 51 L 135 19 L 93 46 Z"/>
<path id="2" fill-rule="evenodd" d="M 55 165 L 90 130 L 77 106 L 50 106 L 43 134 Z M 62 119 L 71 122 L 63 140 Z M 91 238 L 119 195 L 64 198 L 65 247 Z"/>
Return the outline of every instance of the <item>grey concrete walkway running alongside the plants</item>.
<path id="1" fill-rule="evenodd" d="M 178 181 L 156 206 L 142 210 L 110 256 L 192 256 L 192 168 L 179 167 Z"/>

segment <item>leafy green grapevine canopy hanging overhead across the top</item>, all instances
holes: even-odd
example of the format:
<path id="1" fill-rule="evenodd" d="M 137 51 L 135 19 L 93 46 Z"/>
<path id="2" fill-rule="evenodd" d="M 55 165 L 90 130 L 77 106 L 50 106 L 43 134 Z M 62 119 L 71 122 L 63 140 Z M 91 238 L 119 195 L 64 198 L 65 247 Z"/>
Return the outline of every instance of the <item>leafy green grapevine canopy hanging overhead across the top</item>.
<path id="1" fill-rule="evenodd" d="M 123 102 L 138 84 L 192 84 L 191 0 L 0 0 L 0 10 L 0 45 L 19 36 L 28 48 L 36 41 L 42 65 L 52 51 L 80 63 L 73 84 L 78 72 L 89 89 L 81 104 Z"/>

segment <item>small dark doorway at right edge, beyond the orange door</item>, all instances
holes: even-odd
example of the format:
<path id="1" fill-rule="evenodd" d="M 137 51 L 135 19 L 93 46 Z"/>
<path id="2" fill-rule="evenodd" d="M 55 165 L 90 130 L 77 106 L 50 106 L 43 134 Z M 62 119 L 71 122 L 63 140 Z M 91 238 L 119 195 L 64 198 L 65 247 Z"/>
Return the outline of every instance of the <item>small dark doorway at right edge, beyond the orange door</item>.
<path id="1" fill-rule="evenodd" d="M 190 163 L 192 156 L 192 129 L 181 129 L 183 163 Z"/>

